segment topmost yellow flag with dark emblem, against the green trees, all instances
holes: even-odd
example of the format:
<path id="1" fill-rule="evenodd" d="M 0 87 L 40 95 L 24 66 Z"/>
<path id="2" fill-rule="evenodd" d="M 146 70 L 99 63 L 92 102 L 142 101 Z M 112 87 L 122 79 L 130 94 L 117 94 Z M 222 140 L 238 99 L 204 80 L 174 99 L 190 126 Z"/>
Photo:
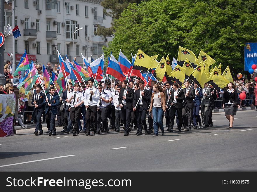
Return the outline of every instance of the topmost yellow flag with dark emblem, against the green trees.
<path id="1" fill-rule="evenodd" d="M 184 64 L 186 58 L 189 60 L 189 62 L 193 66 L 193 68 L 196 68 L 196 66 L 199 64 L 195 54 L 192 51 L 179 46 L 179 49 L 178 49 L 178 65 L 182 66 Z"/>

